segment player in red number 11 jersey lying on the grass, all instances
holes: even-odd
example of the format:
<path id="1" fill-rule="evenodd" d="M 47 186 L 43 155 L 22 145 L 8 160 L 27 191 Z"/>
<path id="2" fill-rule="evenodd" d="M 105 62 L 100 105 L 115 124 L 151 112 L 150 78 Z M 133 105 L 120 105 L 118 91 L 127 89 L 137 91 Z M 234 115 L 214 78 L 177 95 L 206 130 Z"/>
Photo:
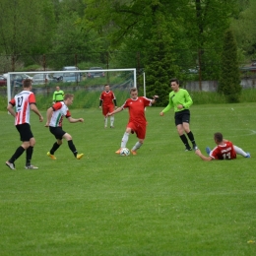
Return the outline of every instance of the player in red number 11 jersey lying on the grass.
<path id="1" fill-rule="evenodd" d="M 242 149 L 233 145 L 230 141 L 224 140 L 222 133 L 215 133 L 214 135 L 215 147 L 212 151 L 209 147 L 206 148 L 206 152 L 209 157 L 205 157 L 199 149 L 195 151 L 196 155 L 202 160 L 234 160 L 236 154 L 243 156 L 244 158 L 250 158 L 250 153 L 245 153 Z"/>

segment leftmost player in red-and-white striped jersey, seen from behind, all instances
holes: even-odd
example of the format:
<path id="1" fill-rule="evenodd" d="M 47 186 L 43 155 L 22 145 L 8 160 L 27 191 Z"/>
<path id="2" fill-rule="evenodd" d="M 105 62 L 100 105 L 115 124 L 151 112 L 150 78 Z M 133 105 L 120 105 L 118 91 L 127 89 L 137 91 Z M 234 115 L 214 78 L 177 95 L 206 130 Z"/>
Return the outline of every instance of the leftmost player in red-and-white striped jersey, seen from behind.
<path id="1" fill-rule="evenodd" d="M 32 80 L 25 79 L 23 82 L 23 91 L 14 96 L 7 106 L 8 111 L 15 117 L 15 126 L 20 133 L 22 145 L 16 150 L 15 154 L 10 160 L 7 160 L 6 165 L 15 169 L 15 160 L 18 160 L 26 151 L 26 169 L 37 169 L 38 167 L 32 165 L 32 152 L 35 145 L 35 140 L 32 135 L 30 117 L 31 110 L 39 116 L 39 121 L 42 122 L 43 117 L 35 104 L 35 96 L 32 91 Z M 15 109 L 14 109 L 15 107 Z"/>

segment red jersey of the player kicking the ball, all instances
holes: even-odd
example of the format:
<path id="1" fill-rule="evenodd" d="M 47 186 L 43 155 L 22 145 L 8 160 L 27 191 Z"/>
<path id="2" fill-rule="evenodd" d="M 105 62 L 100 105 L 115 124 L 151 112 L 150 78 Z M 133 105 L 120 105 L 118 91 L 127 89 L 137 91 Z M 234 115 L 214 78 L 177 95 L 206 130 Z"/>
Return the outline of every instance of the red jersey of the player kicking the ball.
<path id="1" fill-rule="evenodd" d="M 145 96 L 138 96 L 136 99 L 126 99 L 121 107 L 129 108 L 129 122 L 146 125 L 145 107 L 149 105 L 152 105 L 152 99 Z"/>

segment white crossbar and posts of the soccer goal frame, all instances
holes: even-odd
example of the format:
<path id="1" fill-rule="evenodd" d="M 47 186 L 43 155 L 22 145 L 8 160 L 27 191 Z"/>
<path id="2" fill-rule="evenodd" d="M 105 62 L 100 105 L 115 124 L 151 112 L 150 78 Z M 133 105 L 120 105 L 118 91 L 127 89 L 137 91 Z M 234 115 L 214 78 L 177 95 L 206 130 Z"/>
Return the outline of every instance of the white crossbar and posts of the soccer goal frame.
<path id="1" fill-rule="evenodd" d="M 100 69 L 102 72 L 122 72 L 122 71 L 132 71 L 133 72 L 133 81 L 134 81 L 134 88 L 137 88 L 137 80 L 136 80 L 136 68 L 130 68 L 130 69 Z M 63 74 L 63 73 L 88 73 L 88 72 L 98 72 L 98 70 L 62 70 L 62 71 L 31 71 L 31 72 L 8 72 L 7 73 L 7 104 L 11 100 L 11 75 L 19 75 L 19 74 Z"/>

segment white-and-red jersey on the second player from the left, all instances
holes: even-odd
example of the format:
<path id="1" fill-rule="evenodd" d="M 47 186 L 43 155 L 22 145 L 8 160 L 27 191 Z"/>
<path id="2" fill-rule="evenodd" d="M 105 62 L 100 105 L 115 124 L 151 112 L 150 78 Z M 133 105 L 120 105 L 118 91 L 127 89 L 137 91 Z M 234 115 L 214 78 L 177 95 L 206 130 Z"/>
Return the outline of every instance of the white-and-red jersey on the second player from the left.
<path id="1" fill-rule="evenodd" d="M 51 127 L 61 127 L 62 126 L 62 120 L 63 116 L 70 117 L 71 113 L 69 111 L 69 108 L 63 101 L 57 102 L 53 104 L 53 113 L 50 119 L 49 126 Z"/>

